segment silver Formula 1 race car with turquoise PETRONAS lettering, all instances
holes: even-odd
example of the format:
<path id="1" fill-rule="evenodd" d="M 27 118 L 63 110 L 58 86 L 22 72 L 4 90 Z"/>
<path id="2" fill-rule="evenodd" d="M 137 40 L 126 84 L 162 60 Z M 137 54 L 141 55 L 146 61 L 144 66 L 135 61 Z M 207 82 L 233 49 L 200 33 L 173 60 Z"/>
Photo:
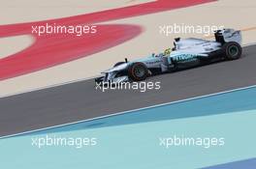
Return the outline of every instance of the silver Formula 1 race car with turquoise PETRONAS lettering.
<path id="1" fill-rule="evenodd" d="M 176 38 L 175 47 L 158 55 L 134 61 L 118 62 L 112 69 L 102 72 L 96 83 L 141 81 L 152 74 L 172 72 L 206 65 L 222 60 L 236 60 L 241 56 L 240 31 L 223 29 L 215 31 L 215 41 L 195 38 Z"/>

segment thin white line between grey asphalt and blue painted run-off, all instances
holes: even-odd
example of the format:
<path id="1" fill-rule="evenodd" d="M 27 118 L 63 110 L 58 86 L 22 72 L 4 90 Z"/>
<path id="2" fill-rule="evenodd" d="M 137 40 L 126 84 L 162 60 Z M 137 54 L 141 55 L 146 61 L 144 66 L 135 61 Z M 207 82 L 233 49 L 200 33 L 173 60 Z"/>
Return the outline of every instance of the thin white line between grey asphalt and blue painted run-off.
<path id="1" fill-rule="evenodd" d="M 36 131 L 42 131 L 42 130 L 46 130 L 46 129 L 52 129 L 52 128 L 55 128 L 55 127 L 65 127 L 65 126 L 70 126 L 70 125 L 76 125 L 76 124 L 80 124 L 80 123 L 84 123 L 84 122 L 88 122 L 88 121 L 109 118 L 109 117 L 112 117 L 112 116 L 119 116 L 119 115 L 123 115 L 123 114 L 126 114 L 126 113 L 131 113 L 131 112 L 134 112 L 134 111 L 141 111 L 141 110 L 145 110 L 145 109 L 149 109 L 149 108 L 155 108 L 155 107 L 165 106 L 165 105 L 169 105 L 169 104 L 176 104 L 176 103 L 179 103 L 179 102 L 185 102 L 185 101 L 189 101 L 189 100 L 193 100 L 193 99 L 205 99 L 205 98 L 209 98 L 209 97 L 214 97 L 214 96 L 218 96 L 218 95 L 233 93 L 233 92 L 252 89 L 252 88 L 256 88 L 256 85 L 237 88 L 237 89 L 232 89 L 232 90 L 213 93 L 213 94 L 208 94 L 208 95 L 204 95 L 204 96 L 200 96 L 200 97 L 194 97 L 194 98 L 190 98 L 190 99 L 180 99 L 180 100 L 176 100 L 176 101 L 165 102 L 165 103 L 151 105 L 151 106 L 147 106 L 147 107 L 143 107 L 143 108 L 137 108 L 137 109 L 132 109 L 132 110 L 113 113 L 113 114 L 110 114 L 110 115 L 100 116 L 100 117 L 96 117 L 96 118 L 91 118 L 91 119 L 81 120 L 81 121 L 77 121 L 77 122 L 57 125 L 57 126 L 53 126 L 53 127 L 43 127 L 43 128 L 39 128 L 39 129 L 33 129 L 33 130 L 29 130 L 29 131 L 19 132 L 19 133 L 16 133 L 16 134 L 1 136 L 0 139 L 14 137 L 14 136 L 22 135 L 22 134 L 28 134 L 28 133 L 32 133 L 32 132 L 36 132 Z"/>

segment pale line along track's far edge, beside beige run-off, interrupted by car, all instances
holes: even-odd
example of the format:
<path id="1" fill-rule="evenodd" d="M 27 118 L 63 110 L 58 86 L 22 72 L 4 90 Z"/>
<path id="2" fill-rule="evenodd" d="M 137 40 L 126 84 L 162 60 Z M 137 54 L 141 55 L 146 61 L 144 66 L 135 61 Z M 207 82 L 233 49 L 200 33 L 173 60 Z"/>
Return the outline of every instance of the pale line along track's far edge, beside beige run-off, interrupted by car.
<path id="1" fill-rule="evenodd" d="M 244 45 L 242 45 L 242 47 L 246 47 L 246 46 L 250 46 L 250 45 L 255 45 L 255 44 L 256 44 L 256 42 L 252 42 L 252 43 L 244 44 Z M 3 95 L 3 96 L 0 96 L 0 99 L 7 98 L 7 97 L 13 97 L 13 96 L 20 95 L 20 94 L 26 94 L 26 93 L 30 93 L 30 92 L 36 92 L 36 91 L 40 91 L 40 90 L 44 90 L 44 89 L 49 89 L 49 88 L 53 88 L 53 87 L 58 87 L 58 86 L 62 86 L 62 85 L 77 83 L 77 82 L 81 82 L 81 81 L 84 81 L 84 80 L 90 80 L 90 79 L 93 79 L 95 77 L 98 77 L 98 75 L 90 76 L 90 77 L 86 77 L 86 78 L 81 78 L 81 79 L 77 79 L 77 80 L 72 80 L 72 81 L 68 81 L 68 82 L 48 85 L 46 87 L 35 88 L 35 89 L 31 89 L 31 90 L 24 91 L 24 92 L 18 92 L 18 93 L 15 93 L 15 94 Z"/>

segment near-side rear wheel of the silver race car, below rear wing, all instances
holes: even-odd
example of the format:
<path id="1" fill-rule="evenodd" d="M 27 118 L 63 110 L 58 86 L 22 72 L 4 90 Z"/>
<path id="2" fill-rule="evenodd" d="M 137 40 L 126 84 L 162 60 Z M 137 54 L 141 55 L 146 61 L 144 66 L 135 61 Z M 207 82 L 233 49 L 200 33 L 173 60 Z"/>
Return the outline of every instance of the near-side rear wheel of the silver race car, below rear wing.
<path id="1" fill-rule="evenodd" d="M 227 42 L 222 49 L 227 60 L 236 60 L 241 56 L 241 46 L 238 42 Z"/>

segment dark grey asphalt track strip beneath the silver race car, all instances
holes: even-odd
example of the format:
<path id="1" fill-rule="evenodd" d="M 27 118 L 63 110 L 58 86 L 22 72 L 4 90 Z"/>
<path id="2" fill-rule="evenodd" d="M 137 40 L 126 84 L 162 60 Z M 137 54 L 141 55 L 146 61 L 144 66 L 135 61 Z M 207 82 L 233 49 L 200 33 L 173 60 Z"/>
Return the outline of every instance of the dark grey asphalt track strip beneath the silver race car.
<path id="1" fill-rule="evenodd" d="M 255 49 L 256 45 L 243 47 L 240 60 L 150 77 L 149 81 L 161 82 L 161 89 L 145 93 L 103 93 L 95 90 L 94 80 L 89 79 L 2 98 L 0 136 L 255 85 Z"/>

